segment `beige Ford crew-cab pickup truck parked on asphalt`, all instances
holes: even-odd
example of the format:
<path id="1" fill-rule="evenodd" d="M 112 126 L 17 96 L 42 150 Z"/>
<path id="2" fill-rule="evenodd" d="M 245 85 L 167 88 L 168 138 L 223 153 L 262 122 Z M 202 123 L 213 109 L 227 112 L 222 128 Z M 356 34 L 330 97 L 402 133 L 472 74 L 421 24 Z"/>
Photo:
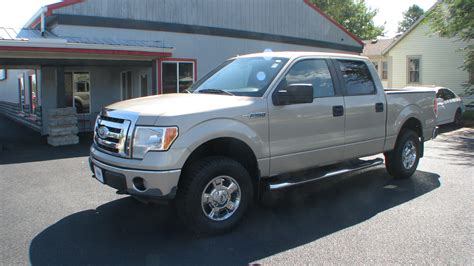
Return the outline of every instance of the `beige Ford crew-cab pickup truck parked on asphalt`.
<path id="1" fill-rule="evenodd" d="M 230 230 L 271 190 L 383 164 L 408 178 L 437 135 L 433 90 L 384 91 L 365 57 L 238 56 L 188 93 L 112 104 L 98 115 L 93 176 L 145 202 L 171 201 L 199 233 Z"/>

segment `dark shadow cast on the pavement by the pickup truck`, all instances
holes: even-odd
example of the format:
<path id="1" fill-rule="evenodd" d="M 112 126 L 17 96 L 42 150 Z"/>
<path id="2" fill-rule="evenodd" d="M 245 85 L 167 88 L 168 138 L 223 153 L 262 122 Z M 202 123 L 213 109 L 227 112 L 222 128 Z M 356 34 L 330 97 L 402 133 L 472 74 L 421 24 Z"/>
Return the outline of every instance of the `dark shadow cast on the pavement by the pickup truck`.
<path id="1" fill-rule="evenodd" d="M 247 264 L 292 249 L 440 186 L 439 176 L 418 171 L 394 180 L 374 168 L 283 191 L 272 208 L 254 207 L 234 231 L 195 237 L 171 207 L 130 197 L 63 218 L 30 244 L 35 264 Z M 283 196 L 284 194 L 284 196 Z"/>

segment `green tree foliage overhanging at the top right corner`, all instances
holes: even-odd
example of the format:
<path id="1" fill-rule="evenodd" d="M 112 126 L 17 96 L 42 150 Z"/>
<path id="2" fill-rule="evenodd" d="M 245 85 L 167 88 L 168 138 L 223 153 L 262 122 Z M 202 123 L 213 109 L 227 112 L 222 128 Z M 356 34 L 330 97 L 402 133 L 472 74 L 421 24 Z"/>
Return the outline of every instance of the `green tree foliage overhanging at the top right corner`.
<path id="1" fill-rule="evenodd" d="M 474 72 L 474 1 L 472 0 L 442 0 L 428 14 L 431 31 L 442 37 L 456 38 L 466 46 L 464 65 L 462 68 L 471 75 Z M 473 95 L 472 76 L 466 81 L 465 94 Z"/>

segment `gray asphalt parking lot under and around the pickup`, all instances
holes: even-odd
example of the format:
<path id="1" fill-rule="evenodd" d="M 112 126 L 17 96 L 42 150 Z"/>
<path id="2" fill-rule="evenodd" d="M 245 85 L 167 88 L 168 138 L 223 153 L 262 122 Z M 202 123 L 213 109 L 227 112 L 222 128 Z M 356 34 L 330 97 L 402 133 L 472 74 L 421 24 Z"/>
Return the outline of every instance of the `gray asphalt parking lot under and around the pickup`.
<path id="1" fill-rule="evenodd" d="M 53 148 L 0 116 L 4 264 L 474 263 L 474 129 L 443 128 L 419 171 L 384 167 L 276 194 L 232 233 L 195 237 L 167 206 L 90 177 L 90 137 Z"/>

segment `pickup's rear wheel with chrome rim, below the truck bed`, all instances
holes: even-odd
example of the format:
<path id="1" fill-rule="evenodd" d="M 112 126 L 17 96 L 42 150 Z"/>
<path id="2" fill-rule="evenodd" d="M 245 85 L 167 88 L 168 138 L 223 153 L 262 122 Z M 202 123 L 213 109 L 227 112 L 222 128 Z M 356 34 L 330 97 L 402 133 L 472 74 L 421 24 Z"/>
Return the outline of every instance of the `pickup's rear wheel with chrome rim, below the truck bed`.
<path id="1" fill-rule="evenodd" d="M 404 129 L 395 144 L 395 149 L 385 153 L 387 172 L 395 178 L 411 177 L 420 161 L 420 148 L 420 139 L 415 131 Z M 404 155 L 405 152 L 407 155 Z"/>

